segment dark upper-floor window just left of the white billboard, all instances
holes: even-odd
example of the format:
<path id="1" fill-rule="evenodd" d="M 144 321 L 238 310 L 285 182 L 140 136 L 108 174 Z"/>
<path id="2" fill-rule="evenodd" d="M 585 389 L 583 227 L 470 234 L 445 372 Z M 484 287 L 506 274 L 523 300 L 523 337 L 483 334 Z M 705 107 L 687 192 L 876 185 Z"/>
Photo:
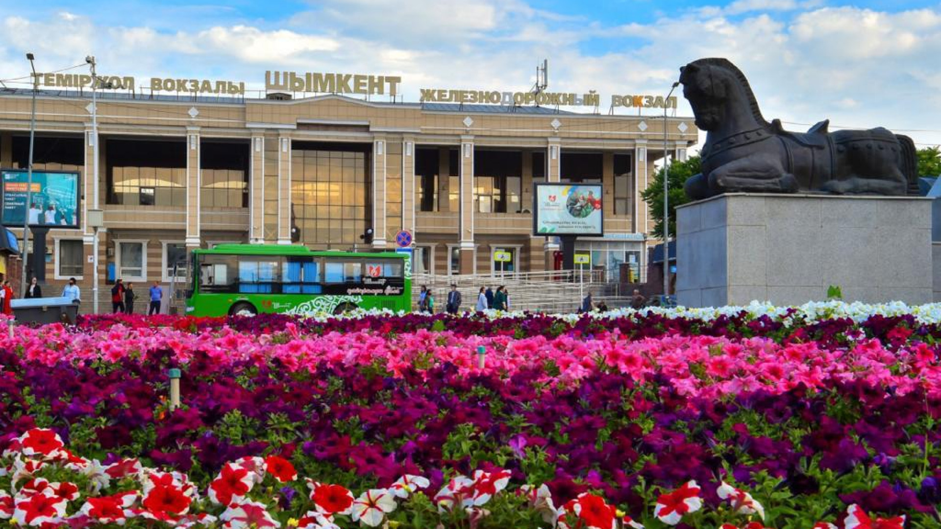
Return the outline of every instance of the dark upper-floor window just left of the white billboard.
<path id="1" fill-rule="evenodd" d="M 474 152 L 474 200 L 480 213 L 519 213 L 522 152 Z"/>

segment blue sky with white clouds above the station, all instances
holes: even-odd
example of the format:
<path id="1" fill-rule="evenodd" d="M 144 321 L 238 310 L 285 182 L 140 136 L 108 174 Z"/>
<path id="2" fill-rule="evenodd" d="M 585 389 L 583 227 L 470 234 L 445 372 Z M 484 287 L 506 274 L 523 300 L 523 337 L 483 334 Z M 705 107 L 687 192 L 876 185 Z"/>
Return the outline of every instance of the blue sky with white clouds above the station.
<path id="1" fill-rule="evenodd" d="M 726 56 L 793 130 L 883 125 L 941 144 L 941 2 L 869 0 L 33 0 L 0 2 L 0 79 L 98 57 L 100 72 L 246 81 L 265 70 L 400 74 L 420 88 L 665 94 Z M 75 71 L 78 72 L 78 71 Z M 619 109 L 626 112 L 625 109 Z M 681 102 L 680 115 L 690 115 Z"/>

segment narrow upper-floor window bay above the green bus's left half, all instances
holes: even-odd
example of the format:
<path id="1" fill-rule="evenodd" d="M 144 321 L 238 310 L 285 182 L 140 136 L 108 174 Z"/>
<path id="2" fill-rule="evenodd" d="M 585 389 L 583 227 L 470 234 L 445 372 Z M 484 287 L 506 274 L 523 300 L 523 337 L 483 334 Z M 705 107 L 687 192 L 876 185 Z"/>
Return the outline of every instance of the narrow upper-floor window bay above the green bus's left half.
<path id="1" fill-rule="evenodd" d="M 204 141 L 200 149 L 201 206 L 248 207 L 248 144 Z"/>

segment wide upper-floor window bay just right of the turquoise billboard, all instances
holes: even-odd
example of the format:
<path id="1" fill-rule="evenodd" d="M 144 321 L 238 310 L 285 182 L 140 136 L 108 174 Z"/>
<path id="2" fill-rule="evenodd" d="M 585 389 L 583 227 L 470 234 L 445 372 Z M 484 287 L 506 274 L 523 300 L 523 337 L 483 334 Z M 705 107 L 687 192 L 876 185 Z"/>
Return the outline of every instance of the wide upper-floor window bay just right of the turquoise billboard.
<path id="1" fill-rule="evenodd" d="M 183 141 L 107 139 L 107 203 L 186 205 Z"/>

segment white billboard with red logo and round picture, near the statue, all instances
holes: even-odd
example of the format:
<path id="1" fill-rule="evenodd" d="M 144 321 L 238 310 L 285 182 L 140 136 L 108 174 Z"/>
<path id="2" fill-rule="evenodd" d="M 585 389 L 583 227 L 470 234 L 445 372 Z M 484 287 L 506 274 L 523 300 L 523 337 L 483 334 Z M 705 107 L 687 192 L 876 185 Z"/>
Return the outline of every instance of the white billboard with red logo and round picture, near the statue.
<path id="1" fill-rule="evenodd" d="M 534 235 L 603 235 L 601 184 L 535 184 Z"/>

